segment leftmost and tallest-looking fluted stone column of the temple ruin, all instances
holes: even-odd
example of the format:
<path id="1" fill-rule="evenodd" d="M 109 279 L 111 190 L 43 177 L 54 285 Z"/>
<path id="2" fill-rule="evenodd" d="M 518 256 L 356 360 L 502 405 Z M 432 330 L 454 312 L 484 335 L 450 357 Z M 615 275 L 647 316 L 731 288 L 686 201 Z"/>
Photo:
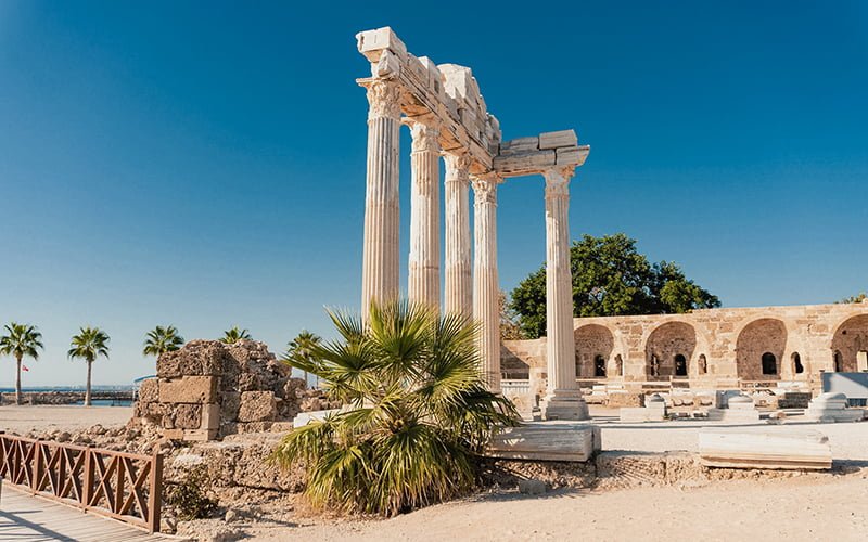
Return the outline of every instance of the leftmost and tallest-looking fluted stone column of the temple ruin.
<path id="1" fill-rule="evenodd" d="M 368 86 L 368 172 L 361 267 L 361 317 L 365 321 L 371 301 L 396 298 L 400 288 L 398 83 L 374 80 Z"/>

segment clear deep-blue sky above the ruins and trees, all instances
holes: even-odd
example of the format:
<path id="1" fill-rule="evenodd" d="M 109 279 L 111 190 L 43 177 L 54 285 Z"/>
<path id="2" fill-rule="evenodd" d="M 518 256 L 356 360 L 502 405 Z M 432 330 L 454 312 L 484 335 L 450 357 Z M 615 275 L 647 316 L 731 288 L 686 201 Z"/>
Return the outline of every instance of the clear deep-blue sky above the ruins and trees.
<path id="1" fill-rule="evenodd" d="M 575 237 L 626 232 L 725 306 L 868 288 L 868 4 L 304 4 L 0 0 L 0 322 L 47 347 L 25 385 L 84 382 L 65 357 L 82 324 L 112 336 L 94 382 L 123 384 L 153 372 L 155 324 L 279 351 L 329 335 L 323 306 L 357 308 L 354 36 L 386 25 L 471 66 L 506 139 L 591 145 Z M 542 180 L 499 203 L 509 289 L 545 259 Z"/>

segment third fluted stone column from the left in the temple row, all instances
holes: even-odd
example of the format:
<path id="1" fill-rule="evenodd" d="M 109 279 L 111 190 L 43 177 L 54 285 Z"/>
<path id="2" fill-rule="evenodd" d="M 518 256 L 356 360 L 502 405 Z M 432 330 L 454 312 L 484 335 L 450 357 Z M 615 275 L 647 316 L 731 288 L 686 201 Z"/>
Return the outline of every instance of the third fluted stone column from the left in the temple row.
<path id="1" fill-rule="evenodd" d="M 446 154 L 445 312 L 473 317 L 470 260 L 470 155 Z"/>

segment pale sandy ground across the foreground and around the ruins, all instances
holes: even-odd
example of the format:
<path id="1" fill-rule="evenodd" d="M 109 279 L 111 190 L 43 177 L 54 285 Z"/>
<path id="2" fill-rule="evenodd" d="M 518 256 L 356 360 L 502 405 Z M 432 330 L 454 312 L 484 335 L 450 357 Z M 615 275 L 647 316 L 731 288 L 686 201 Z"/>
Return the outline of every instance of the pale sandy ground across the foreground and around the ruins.
<path id="1" fill-rule="evenodd" d="M 604 450 L 695 451 L 709 422 L 621 425 L 592 410 Z M 127 422 L 117 406 L 0 406 L 0 429 L 104 426 Z M 761 425 L 767 426 L 763 423 Z M 837 462 L 861 467 L 846 476 L 715 481 L 614 491 L 562 490 L 541 496 L 496 493 L 424 508 L 388 520 L 296 517 L 255 524 L 259 540 L 868 540 L 868 422 L 806 424 L 829 437 Z M 290 504 L 288 503 L 288 506 Z"/>

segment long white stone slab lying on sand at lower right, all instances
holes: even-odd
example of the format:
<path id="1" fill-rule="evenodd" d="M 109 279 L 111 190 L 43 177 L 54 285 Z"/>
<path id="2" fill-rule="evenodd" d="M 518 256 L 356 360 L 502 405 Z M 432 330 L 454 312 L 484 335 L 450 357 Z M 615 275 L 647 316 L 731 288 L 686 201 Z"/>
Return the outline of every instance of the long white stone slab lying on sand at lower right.
<path id="1" fill-rule="evenodd" d="M 791 427 L 703 428 L 699 433 L 702 463 L 713 467 L 826 469 L 832 466 L 829 439 Z"/>

